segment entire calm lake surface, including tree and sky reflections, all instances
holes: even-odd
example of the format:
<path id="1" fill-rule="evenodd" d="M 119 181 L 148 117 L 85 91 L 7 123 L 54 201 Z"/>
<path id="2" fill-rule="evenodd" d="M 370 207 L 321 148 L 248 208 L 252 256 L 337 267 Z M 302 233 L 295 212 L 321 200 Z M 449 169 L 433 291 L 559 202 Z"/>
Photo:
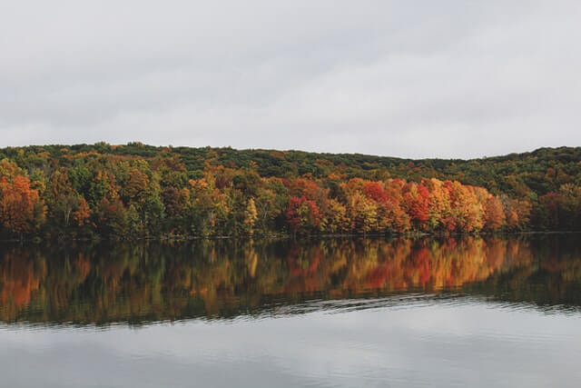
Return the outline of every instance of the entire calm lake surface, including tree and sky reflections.
<path id="1" fill-rule="evenodd" d="M 0 245 L 1 386 L 581 385 L 581 235 Z"/>

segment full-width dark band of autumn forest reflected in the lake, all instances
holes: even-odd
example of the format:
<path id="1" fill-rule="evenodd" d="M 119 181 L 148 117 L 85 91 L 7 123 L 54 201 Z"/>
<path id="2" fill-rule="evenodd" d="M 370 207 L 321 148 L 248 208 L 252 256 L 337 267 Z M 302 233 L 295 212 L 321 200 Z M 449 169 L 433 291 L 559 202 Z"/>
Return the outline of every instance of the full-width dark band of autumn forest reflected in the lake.
<path id="1" fill-rule="evenodd" d="M 0 320 L 143 324 L 475 299 L 578 311 L 578 237 L 4 244 Z"/>

